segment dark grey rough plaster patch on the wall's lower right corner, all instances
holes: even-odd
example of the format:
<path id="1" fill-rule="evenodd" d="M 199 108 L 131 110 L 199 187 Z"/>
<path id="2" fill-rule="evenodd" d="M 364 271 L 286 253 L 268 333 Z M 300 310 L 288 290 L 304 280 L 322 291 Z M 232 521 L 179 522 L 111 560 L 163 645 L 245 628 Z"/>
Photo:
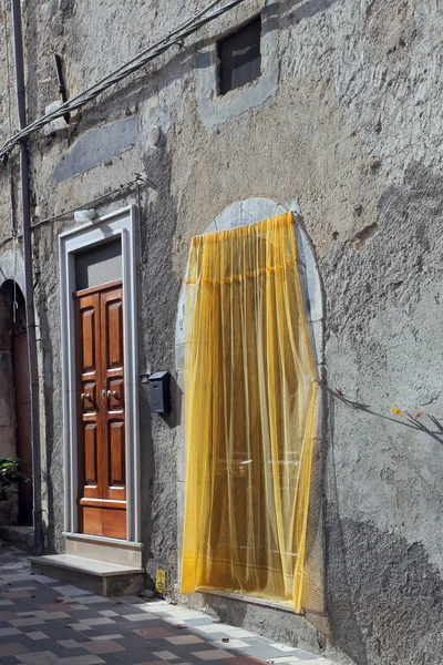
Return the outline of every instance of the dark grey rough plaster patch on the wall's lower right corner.
<path id="1" fill-rule="evenodd" d="M 440 665 L 440 572 L 422 544 L 340 515 L 333 473 L 333 405 L 330 413 L 327 587 L 334 643 L 358 665 Z"/>

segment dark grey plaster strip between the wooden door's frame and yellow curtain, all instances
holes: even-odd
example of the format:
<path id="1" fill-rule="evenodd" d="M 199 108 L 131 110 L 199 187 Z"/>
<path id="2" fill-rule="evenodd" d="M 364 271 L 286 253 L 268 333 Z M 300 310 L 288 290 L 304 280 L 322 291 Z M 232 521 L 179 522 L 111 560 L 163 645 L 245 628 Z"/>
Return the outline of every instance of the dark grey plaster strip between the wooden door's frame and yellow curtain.
<path id="1" fill-rule="evenodd" d="M 144 173 L 153 174 L 157 196 L 147 197 L 141 211 L 140 362 L 148 374 L 174 369 L 174 335 L 181 282 L 173 266 L 177 226 L 176 202 L 171 196 L 171 156 L 165 150 L 146 151 Z M 151 413 L 148 391 L 143 389 L 140 409 L 142 468 L 142 534 L 147 550 L 147 572 L 166 571 L 177 577 L 177 450 L 174 428 L 179 412 L 176 386 L 171 377 L 172 411 Z M 179 397 L 179 396 L 178 396 Z M 179 408 L 179 407 L 178 407 Z"/>

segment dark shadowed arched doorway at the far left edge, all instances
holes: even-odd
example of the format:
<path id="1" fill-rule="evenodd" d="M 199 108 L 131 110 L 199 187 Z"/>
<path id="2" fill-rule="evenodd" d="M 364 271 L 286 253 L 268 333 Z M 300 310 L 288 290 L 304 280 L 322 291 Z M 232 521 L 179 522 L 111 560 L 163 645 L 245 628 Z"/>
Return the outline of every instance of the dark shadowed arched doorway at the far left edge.
<path id="1" fill-rule="evenodd" d="M 20 470 L 32 475 L 31 401 L 25 303 L 20 287 L 8 279 L 0 287 L 0 378 L 4 391 L 0 457 L 17 456 Z M 7 515 L 3 515 L 3 520 Z M 32 483 L 19 487 L 16 502 L 8 510 L 9 523 L 32 524 Z"/>

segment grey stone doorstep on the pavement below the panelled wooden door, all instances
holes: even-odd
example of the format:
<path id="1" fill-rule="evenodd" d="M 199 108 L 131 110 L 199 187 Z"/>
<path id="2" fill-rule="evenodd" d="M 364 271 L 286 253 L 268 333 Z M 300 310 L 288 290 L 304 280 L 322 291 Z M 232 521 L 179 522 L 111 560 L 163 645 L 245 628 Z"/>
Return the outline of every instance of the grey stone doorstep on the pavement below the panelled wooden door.
<path id="1" fill-rule="evenodd" d="M 30 556 L 32 571 L 96 595 L 133 595 L 145 587 L 143 569 L 69 554 Z"/>

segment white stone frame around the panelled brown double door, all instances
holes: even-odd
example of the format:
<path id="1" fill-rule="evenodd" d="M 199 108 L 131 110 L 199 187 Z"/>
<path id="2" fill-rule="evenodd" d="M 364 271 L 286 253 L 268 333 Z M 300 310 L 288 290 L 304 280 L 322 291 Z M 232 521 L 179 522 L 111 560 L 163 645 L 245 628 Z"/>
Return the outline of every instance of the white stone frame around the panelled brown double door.
<path id="1" fill-rule="evenodd" d="M 76 457 L 76 366 L 74 299 L 75 260 L 79 250 L 92 248 L 112 238 L 122 241 L 123 334 L 126 405 L 126 542 L 138 543 L 140 511 L 140 436 L 138 436 L 138 356 L 136 317 L 136 235 L 137 209 L 124 207 L 93 222 L 76 226 L 59 236 L 60 296 L 62 331 L 62 387 L 64 439 L 64 534 L 78 532 L 78 457 Z M 92 536 L 104 542 L 117 539 Z"/>

